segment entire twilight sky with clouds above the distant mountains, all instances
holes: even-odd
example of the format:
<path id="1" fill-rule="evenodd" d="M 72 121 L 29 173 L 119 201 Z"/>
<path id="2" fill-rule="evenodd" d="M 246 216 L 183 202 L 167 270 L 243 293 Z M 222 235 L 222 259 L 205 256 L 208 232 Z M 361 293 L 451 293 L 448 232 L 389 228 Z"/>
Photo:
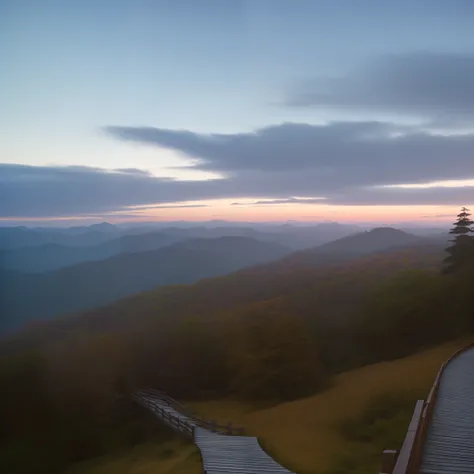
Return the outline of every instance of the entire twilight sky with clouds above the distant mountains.
<path id="1" fill-rule="evenodd" d="M 0 221 L 450 222 L 472 0 L 0 0 Z"/>

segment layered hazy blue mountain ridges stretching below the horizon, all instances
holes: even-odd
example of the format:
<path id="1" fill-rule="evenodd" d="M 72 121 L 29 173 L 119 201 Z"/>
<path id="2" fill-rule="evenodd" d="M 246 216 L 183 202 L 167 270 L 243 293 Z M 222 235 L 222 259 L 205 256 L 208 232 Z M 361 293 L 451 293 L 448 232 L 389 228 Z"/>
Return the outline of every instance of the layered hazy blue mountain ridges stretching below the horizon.
<path id="1" fill-rule="evenodd" d="M 30 320 L 106 305 L 159 286 L 190 284 L 248 268 L 266 278 L 266 275 L 288 268 L 296 271 L 325 268 L 397 248 L 415 247 L 436 252 L 446 242 L 445 234 L 420 237 L 394 228 L 351 233 L 354 229 L 338 225 L 319 229 L 318 226 L 303 227 L 297 232 L 293 226 L 281 226 L 278 231 L 273 228 L 272 232 L 245 227 L 176 227 L 167 228 L 166 232 L 140 233 L 140 230 L 150 229 L 143 227 L 127 229 L 127 235 L 119 236 L 117 234 L 124 232 L 123 229 L 109 225 L 102 229 L 105 232 L 97 228 L 52 233 L 33 230 L 36 236 L 54 236 L 56 240 L 58 235 L 63 239 L 88 236 L 89 241 L 93 240 L 91 235 L 108 237 L 95 245 L 74 247 L 46 243 L 4 249 L 0 254 L 3 259 L 1 329 L 10 330 Z M 16 231 L 23 237 L 28 235 L 24 229 Z M 225 233 L 238 235 L 221 236 Z M 325 240 L 334 233 L 342 233 L 343 237 L 294 251 L 305 239 L 309 244 L 312 240 L 317 242 L 318 235 L 320 240 Z M 5 235 L 3 233 L 3 237 Z M 260 238 L 256 239 L 254 235 Z M 293 245 L 281 243 L 288 241 Z"/>

